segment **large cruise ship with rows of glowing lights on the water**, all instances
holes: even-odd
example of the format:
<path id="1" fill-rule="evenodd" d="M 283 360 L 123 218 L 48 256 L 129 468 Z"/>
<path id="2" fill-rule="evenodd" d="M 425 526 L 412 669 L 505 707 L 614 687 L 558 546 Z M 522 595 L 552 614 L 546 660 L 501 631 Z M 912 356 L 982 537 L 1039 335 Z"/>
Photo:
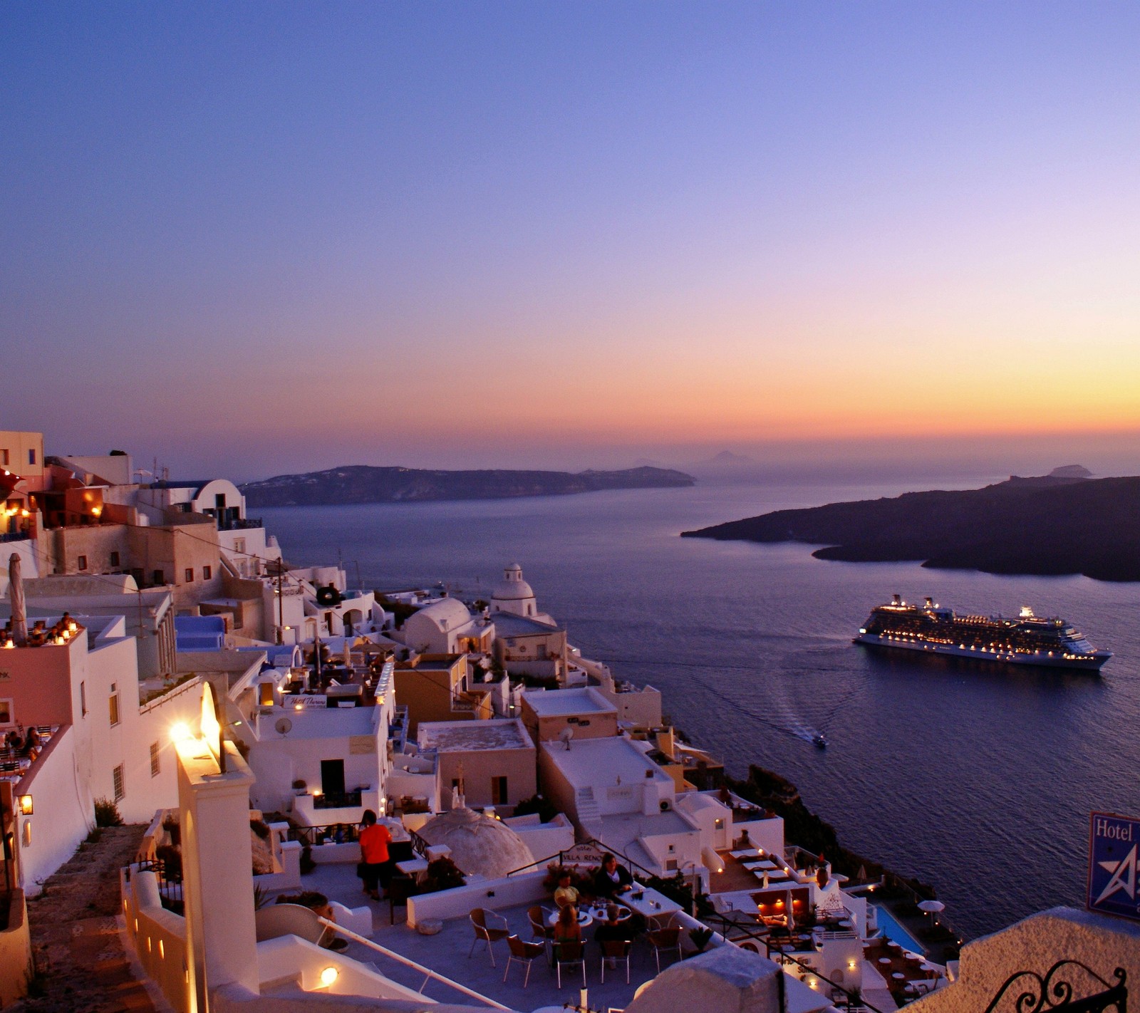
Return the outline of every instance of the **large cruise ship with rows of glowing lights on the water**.
<path id="1" fill-rule="evenodd" d="M 1016 619 L 958 615 L 931 598 L 907 605 L 899 595 L 871 612 L 855 643 L 1048 668 L 1099 669 L 1113 656 L 1064 619 L 1034 615 L 1028 606 Z"/>

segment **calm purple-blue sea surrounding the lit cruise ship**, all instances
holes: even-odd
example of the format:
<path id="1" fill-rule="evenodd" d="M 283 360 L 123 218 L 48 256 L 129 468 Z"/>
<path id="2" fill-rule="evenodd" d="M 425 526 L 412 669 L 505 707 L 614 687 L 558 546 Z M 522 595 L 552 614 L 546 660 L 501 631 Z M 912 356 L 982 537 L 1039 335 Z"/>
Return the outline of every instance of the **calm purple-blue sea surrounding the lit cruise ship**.
<path id="1" fill-rule="evenodd" d="M 477 591 L 519 562 L 587 656 L 659 687 L 676 725 L 733 773 L 755 761 L 789 777 L 847 847 L 935 883 L 947 916 L 975 937 L 1081 905 L 1090 810 L 1140 815 L 1140 585 L 829 563 L 806 546 L 677 537 L 902 491 L 701 483 L 261 513 L 291 563 L 340 552 L 350 583 L 359 569 L 369 588 Z M 1098 677 L 853 645 L 871 606 L 895 591 L 986 614 L 1032 605 L 1116 656 Z M 825 751 L 809 742 L 816 729 Z"/>

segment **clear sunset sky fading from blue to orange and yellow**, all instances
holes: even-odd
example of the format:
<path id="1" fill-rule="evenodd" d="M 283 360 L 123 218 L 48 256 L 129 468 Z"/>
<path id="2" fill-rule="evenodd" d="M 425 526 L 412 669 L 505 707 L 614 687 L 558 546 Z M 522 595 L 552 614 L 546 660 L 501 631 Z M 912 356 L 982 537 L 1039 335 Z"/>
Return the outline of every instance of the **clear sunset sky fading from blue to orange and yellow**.
<path id="1" fill-rule="evenodd" d="M 1138 54 L 1134 2 L 6 3 L 0 427 L 1137 473 Z"/>

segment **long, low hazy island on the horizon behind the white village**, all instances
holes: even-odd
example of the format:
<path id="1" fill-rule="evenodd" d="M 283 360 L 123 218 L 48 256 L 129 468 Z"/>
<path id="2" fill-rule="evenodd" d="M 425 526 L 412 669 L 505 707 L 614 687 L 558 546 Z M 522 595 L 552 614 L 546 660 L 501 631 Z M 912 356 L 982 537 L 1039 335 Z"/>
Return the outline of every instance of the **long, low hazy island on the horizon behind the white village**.
<path id="1" fill-rule="evenodd" d="M 668 489 L 695 480 L 669 468 L 618 472 L 448 472 L 347 465 L 302 475 L 277 475 L 242 485 L 251 507 L 328 506 L 350 503 L 423 503 L 440 499 L 513 499 L 569 496 L 602 489 Z"/>

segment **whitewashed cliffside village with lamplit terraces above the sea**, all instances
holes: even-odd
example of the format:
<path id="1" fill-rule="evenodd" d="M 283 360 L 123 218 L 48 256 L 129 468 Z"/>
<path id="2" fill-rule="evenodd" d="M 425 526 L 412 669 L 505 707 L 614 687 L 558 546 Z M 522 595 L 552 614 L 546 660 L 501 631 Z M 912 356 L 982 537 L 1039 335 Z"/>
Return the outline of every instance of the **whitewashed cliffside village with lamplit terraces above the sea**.
<path id="1" fill-rule="evenodd" d="M 27 899 L 107 814 L 147 827 L 122 926 L 177 1011 L 975 1010 L 1026 947 L 1137 964 L 1130 924 L 1067 908 L 928 951 L 881 883 L 725 787 L 656 688 L 585 657 L 518 564 L 479 601 L 352 588 L 292 566 L 226 479 L 46 456 L 40 433 L 0 432 L 0 1005 L 25 987 Z M 369 810 L 392 840 L 378 901 Z M 603 954 L 605 855 L 630 882 Z M 561 874 L 578 950 L 553 939 Z"/>

